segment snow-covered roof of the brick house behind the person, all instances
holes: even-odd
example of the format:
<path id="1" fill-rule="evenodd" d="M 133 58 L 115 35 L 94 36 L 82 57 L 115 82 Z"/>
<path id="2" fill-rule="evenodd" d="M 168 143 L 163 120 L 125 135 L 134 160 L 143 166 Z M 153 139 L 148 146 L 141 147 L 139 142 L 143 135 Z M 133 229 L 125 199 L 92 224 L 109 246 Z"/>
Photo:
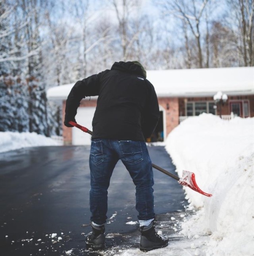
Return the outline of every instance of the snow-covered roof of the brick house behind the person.
<path id="1" fill-rule="evenodd" d="M 146 73 L 158 97 L 214 96 L 218 91 L 227 95 L 254 94 L 254 67 L 148 70 Z M 66 99 L 73 85 L 48 89 L 48 99 Z"/>

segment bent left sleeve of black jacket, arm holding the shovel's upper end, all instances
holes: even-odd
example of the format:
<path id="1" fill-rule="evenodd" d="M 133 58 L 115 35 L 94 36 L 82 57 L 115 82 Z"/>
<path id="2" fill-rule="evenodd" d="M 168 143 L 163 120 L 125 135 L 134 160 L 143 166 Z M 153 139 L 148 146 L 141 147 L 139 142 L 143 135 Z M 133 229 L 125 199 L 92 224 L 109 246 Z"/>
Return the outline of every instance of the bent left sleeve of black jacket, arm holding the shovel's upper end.
<path id="1" fill-rule="evenodd" d="M 102 72 L 91 75 L 82 81 L 77 81 L 77 83 L 75 83 L 75 85 L 72 87 L 65 105 L 65 126 L 73 127 L 73 125 L 69 124 L 69 121 L 76 122 L 75 115 L 77 114 L 77 108 L 79 107 L 83 98 L 98 95 L 101 75 Z"/>

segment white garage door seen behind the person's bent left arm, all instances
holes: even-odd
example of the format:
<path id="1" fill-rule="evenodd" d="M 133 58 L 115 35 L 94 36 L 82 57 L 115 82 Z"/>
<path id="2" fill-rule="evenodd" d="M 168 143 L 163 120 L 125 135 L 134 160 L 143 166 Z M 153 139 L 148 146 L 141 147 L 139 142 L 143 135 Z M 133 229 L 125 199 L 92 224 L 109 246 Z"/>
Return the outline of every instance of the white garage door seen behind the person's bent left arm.
<path id="1" fill-rule="evenodd" d="M 77 109 L 77 115 L 75 119 L 78 124 L 87 127 L 92 131 L 92 118 L 94 116 L 95 108 L 94 107 L 83 107 Z M 90 145 L 91 144 L 91 135 L 84 133 L 80 129 L 73 127 L 72 128 L 72 144 L 73 145 Z"/>

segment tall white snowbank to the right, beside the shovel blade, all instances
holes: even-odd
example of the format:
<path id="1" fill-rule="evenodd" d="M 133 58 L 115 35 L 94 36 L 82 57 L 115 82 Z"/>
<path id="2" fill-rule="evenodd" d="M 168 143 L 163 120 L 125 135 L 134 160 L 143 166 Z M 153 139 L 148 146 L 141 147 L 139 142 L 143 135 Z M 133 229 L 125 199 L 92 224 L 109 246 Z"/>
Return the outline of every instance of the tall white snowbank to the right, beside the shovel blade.
<path id="1" fill-rule="evenodd" d="M 166 149 L 180 177 L 182 170 L 193 171 L 200 189 L 213 194 L 185 187 L 190 207 L 200 211 L 181 233 L 190 239 L 211 234 L 206 255 L 253 255 L 254 118 L 189 118 L 170 133 Z"/>

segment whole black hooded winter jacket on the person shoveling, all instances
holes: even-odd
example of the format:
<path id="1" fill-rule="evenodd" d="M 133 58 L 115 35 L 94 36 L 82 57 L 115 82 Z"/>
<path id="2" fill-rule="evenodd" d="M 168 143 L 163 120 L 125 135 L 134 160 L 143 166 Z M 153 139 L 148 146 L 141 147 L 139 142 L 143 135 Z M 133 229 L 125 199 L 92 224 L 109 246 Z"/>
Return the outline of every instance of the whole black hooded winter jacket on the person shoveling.
<path id="1" fill-rule="evenodd" d="M 159 106 L 143 74 L 133 62 L 115 62 L 111 70 L 77 81 L 66 101 L 64 124 L 75 121 L 82 98 L 98 95 L 92 138 L 144 141 L 158 123 Z"/>

